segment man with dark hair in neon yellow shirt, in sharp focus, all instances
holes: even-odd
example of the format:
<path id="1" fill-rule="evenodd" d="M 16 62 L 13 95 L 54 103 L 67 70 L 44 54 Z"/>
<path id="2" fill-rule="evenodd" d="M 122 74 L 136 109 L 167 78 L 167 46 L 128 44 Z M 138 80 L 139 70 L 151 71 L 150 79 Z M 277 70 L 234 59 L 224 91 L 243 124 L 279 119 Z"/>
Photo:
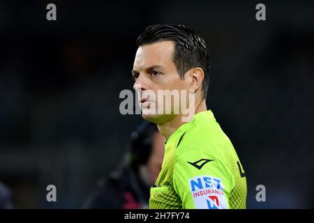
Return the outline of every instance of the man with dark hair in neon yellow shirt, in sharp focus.
<path id="1" fill-rule="evenodd" d="M 207 111 L 210 65 L 204 40 L 186 26 L 156 24 L 137 38 L 137 47 L 132 73 L 142 117 L 156 123 L 165 138 L 163 167 L 151 187 L 149 208 L 246 208 L 244 169 Z M 163 107 L 158 91 L 183 92 L 181 99 L 187 92 L 193 95 L 187 102 L 193 115 L 184 121 L 182 100 Z"/>

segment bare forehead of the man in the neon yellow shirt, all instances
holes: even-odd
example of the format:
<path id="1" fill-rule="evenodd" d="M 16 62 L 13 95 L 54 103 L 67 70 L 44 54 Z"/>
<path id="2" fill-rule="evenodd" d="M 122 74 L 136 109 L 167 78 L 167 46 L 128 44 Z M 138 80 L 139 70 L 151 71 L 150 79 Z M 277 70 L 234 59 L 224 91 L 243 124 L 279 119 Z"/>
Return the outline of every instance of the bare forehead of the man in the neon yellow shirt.
<path id="1" fill-rule="evenodd" d="M 134 68 L 144 69 L 154 65 L 170 65 L 170 63 L 173 63 L 173 51 L 174 43 L 172 41 L 142 45 L 137 49 Z"/>

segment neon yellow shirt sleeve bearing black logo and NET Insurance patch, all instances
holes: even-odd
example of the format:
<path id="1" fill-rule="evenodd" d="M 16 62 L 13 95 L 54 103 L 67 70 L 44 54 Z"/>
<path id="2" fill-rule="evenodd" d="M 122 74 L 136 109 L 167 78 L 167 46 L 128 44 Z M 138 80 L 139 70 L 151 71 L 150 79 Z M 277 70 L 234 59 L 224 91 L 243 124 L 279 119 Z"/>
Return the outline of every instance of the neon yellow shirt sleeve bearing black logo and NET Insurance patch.
<path id="1" fill-rule="evenodd" d="M 190 151 L 177 157 L 174 190 L 184 209 L 227 209 L 234 178 L 224 162 L 204 151 Z"/>

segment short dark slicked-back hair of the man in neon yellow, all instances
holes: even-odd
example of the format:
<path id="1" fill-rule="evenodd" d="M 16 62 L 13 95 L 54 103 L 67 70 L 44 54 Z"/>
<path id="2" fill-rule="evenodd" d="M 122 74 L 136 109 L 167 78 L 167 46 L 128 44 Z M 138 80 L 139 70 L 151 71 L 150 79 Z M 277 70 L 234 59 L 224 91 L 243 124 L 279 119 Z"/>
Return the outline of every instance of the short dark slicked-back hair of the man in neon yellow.
<path id="1" fill-rule="evenodd" d="M 137 38 L 137 47 L 159 43 L 174 42 L 173 62 L 177 71 L 184 79 L 185 73 L 192 68 L 202 68 L 204 80 L 202 82 L 203 98 L 206 98 L 209 86 L 209 51 L 205 41 L 192 29 L 181 24 L 154 24 L 148 26 Z"/>

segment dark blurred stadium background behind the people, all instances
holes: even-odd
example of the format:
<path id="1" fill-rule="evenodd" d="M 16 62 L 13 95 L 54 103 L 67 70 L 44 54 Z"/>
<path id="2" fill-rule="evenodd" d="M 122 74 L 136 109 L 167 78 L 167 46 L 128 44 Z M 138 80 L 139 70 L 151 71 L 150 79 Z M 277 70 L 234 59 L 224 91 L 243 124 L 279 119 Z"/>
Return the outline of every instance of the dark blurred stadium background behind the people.
<path id="1" fill-rule="evenodd" d="M 0 181 L 15 208 L 81 208 L 117 167 L 142 120 L 119 113 L 119 93 L 133 86 L 137 36 L 156 23 L 207 42 L 207 105 L 246 171 L 247 207 L 313 208 L 314 2 L 196 0 L 0 1 Z"/>

